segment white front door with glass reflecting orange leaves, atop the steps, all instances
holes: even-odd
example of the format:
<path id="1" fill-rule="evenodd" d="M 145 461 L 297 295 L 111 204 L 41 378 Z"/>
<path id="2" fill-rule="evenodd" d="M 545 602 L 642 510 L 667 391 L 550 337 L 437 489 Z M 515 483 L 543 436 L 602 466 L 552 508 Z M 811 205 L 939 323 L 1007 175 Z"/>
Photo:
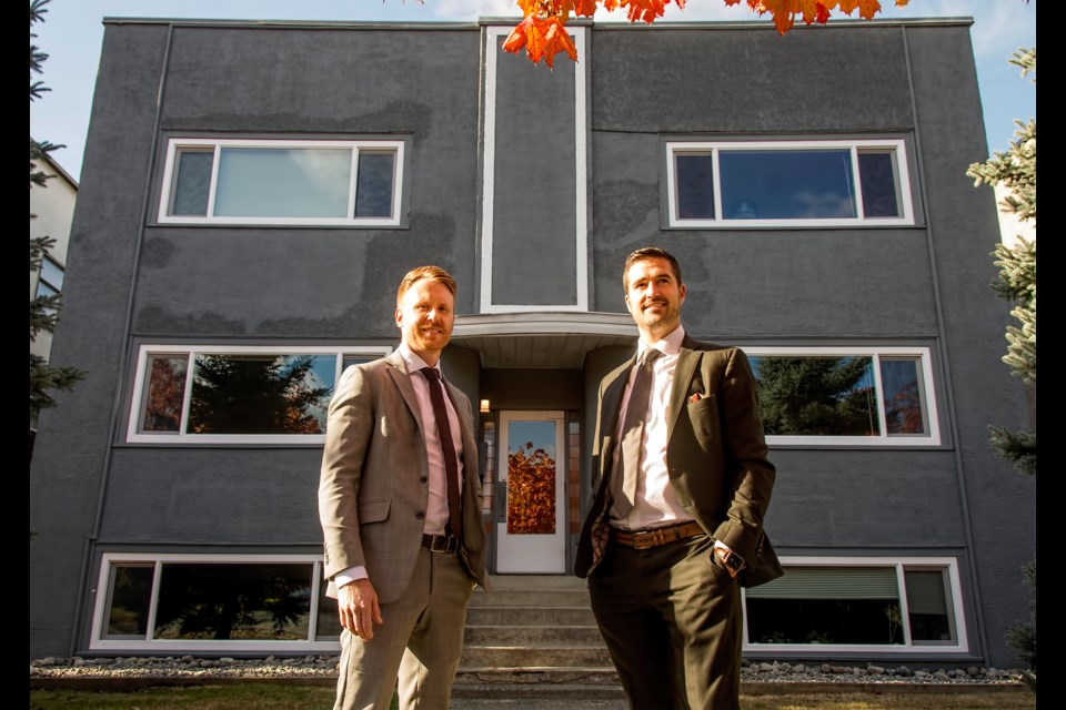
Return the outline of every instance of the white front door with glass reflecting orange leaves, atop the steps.
<path id="1" fill-rule="evenodd" d="M 562 412 L 501 412 L 496 572 L 566 571 Z"/>

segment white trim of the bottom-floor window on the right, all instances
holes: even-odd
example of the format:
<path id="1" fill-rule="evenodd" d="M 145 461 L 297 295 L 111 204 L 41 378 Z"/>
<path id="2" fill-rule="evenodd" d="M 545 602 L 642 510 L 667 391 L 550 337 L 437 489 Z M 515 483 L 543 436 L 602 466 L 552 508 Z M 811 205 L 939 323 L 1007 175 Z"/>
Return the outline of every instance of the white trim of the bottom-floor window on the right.
<path id="1" fill-rule="evenodd" d="M 814 556 L 781 556 L 782 567 L 893 567 L 896 570 L 896 585 L 899 590 L 899 613 L 909 619 L 907 608 L 907 588 L 904 584 L 904 568 L 927 567 L 947 571 L 951 587 L 947 602 L 952 605 L 952 615 L 955 621 L 956 642 L 947 643 L 914 643 L 911 640 L 911 625 L 903 625 L 904 642 L 888 643 L 752 643 L 747 640 L 747 590 L 742 589 L 744 602 L 744 650 L 772 651 L 775 653 L 802 653 L 807 657 L 834 656 L 842 651 L 871 653 L 877 656 L 922 653 L 937 656 L 944 653 L 969 652 L 969 640 L 966 633 L 965 608 L 963 607 L 962 584 L 958 577 L 958 560 L 954 557 L 814 557 Z M 786 572 L 787 574 L 787 572 Z"/>

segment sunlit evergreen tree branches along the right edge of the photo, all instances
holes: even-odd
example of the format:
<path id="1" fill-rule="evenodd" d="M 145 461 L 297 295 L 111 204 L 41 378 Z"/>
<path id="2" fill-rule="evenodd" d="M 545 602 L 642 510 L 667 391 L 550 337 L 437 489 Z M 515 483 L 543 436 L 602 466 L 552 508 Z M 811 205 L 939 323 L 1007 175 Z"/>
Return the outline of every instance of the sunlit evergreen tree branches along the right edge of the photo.
<path id="1" fill-rule="evenodd" d="M 1022 75 L 1033 74 L 1036 84 L 1036 48 L 1018 49 L 1009 60 L 1022 68 Z M 966 174 L 975 184 L 1003 184 L 1010 193 L 1000 202 L 1004 212 L 1017 215 L 1023 222 L 1032 221 L 1034 239 L 1018 235 L 1017 244 L 1008 247 L 999 244 L 992 253 L 999 274 L 992 283 L 993 290 L 1014 304 L 1010 315 L 1017 324 L 1007 327 L 1007 354 L 1003 362 L 1010 367 L 1036 396 L 1036 121 L 1023 124 L 1015 121 L 1018 130 L 1006 152 L 993 153 L 985 163 L 974 163 Z M 1036 476 L 1036 429 L 1014 432 L 1005 427 L 989 426 L 992 445 L 997 454 L 1014 464 L 1026 475 Z M 1018 651 L 1029 665 L 1025 680 L 1036 690 L 1036 559 L 1023 567 L 1025 582 L 1033 591 L 1028 623 L 1019 622 L 1007 632 L 1007 643 Z"/>

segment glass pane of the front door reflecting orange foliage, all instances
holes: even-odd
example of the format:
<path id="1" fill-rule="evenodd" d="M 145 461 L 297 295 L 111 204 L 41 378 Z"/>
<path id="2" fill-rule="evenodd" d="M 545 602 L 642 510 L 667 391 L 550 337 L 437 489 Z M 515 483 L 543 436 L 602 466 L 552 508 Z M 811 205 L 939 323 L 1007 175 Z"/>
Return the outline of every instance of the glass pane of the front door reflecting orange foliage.
<path id="1" fill-rule="evenodd" d="M 507 429 L 507 535 L 555 532 L 555 423 Z"/>

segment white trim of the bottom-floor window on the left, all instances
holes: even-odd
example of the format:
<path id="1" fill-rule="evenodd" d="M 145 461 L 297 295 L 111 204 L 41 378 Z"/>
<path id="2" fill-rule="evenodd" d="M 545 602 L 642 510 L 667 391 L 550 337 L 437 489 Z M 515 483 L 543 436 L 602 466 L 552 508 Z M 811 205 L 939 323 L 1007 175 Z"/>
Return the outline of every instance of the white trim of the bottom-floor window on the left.
<path id="1" fill-rule="evenodd" d="M 147 620 L 147 639 L 105 639 L 103 630 L 108 616 L 108 599 L 110 597 L 110 577 L 112 565 L 123 564 L 154 565 L 152 577 L 152 597 Z M 243 640 L 243 641 L 203 641 L 195 639 L 153 639 L 155 628 L 155 607 L 159 600 L 159 576 L 164 562 L 208 562 L 208 564 L 306 564 L 311 567 L 311 609 L 308 619 L 308 639 L 302 641 L 286 641 L 279 639 Z M 92 632 L 89 640 L 90 650 L 153 650 L 154 651 L 275 651 L 275 652 L 329 652 L 335 653 L 340 641 L 314 641 L 318 633 L 319 597 L 322 588 L 322 556 L 321 555 L 177 555 L 177 554 L 140 554 L 140 552 L 104 552 L 100 561 L 100 576 L 97 580 L 97 599 L 93 605 Z"/>

